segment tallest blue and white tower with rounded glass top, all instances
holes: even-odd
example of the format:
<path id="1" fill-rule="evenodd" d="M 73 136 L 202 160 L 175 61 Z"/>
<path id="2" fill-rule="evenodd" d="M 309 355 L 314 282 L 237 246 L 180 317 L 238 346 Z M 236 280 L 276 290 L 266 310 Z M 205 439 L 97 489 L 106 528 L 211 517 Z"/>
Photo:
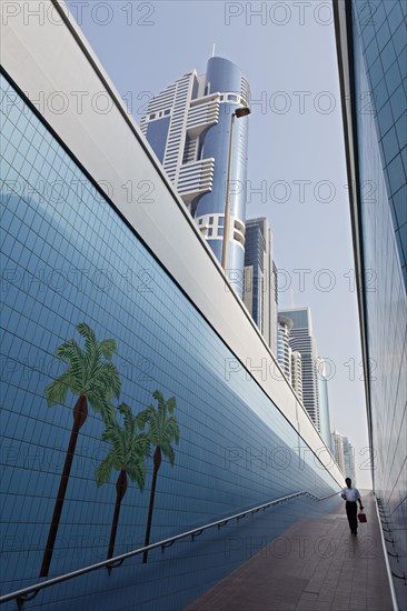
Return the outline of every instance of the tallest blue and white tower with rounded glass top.
<path id="1" fill-rule="evenodd" d="M 151 98 L 140 128 L 219 262 L 222 254 L 228 164 L 230 232 L 227 273 L 242 296 L 248 119 L 232 116 L 249 104 L 249 84 L 231 61 L 212 57 Z"/>

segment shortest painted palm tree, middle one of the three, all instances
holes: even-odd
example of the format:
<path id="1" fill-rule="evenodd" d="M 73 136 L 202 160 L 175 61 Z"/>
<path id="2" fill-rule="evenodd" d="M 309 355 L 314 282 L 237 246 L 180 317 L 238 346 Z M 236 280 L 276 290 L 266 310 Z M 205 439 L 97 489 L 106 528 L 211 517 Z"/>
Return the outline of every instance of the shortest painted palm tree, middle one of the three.
<path id="1" fill-rule="evenodd" d="M 110 443 L 111 449 L 95 473 L 99 487 L 110 480 L 112 468 L 119 471 L 116 482 L 116 505 L 110 531 L 108 560 L 113 558 L 120 507 L 127 491 L 127 478 L 129 477 L 131 481 L 136 482 L 142 491 L 146 480 L 145 459 L 150 455 L 150 441 L 147 434 L 137 434 L 139 431 L 138 418 L 132 414 L 131 409 L 126 403 L 121 403 L 118 410 L 123 415 L 125 427 L 122 428 L 113 422 L 106 428 L 102 440 Z"/>

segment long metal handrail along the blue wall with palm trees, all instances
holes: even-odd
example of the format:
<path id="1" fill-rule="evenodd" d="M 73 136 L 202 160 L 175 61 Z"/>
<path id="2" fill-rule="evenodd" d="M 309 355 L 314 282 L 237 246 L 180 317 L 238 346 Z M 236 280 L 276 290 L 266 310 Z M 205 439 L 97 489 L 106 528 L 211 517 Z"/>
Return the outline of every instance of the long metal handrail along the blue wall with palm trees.
<path id="1" fill-rule="evenodd" d="M 205 530 L 208 530 L 214 527 L 218 527 L 218 530 L 227 524 L 230 520 L 237 520 L 245 518 L 249 513 L 257 513 L 260 509 L 264 511 L 271 507 L 279 503 L 282 503 L 285 501 L 288 501 L 290 499 L 295 499 L 296 497 L 300 497 L 302 494 L 306 494 L 307 497 L 311 497 L 312 499 L 316 499 L 317 501 L 324 501 L 325 499 L 329 499 L 330 497 L 335 497 L 339 492 L 332 492 L 331 494 L 327 494 L 326 497 L 316 497 L 311 492 L 308 492 L 307 490 L 301 490 L 300 492 L 294 492 L 292 494 L 288 494 L 286 497 L 281 497 L 280 499 L 276 499 L 274 501 L 269 501 L 267 503 L 262 503 L 261 505 L 256 505 L 251 509 L 247 509 L 246 511 L 241 511 L 240 513 L 234 513 L 232 515 L 229 515 L 227 518 L 222 518 L 221 520 L 216 520 L 215 522 L 209 522 L 208 524 L 205 524 L 204 527 L 199 527 L 192 530 L 188 530 L 187 532 L 182 532 L 181 534 L 176 534 L 175 537 L 170 537 L 168 539 L 162 539 L 162 541 L 158 541 L 157 543 L 151 543 L 150 545 L 145 545 L 143 548 L 138 548 L 137 550 L 132 550 L 131 552 L 122 553 L 120 555 L 116 555 L 115 558 L 110 558 L 109 560 L 103 560 L 102 562 L 97 562 L 96 564 L 90 564 L 89 567 L 83 567 L 82 569 L 78 569 L 76 571 L 71 571 L 70 573 L 64 573 L 59 577 L 54 577 L 52 579 L 48 579 L 47 581 L 41 581 L 39 583 L 36 583 L 33 585 L 28 585 L 27 588 L 22 588 L 21 590 L 16 590 L 14 592 L 10 592 L 9 594 L 4 594 L 0 597 L 0 604 L 3 602 L 8 602 L 10 600 L 17 599 L 17 602 L 19 604 L 19 608 L 22 605 L 22 603 L 27 600 L 33 599 L 40 590 L 43 590 L 44 588 L 49 588 L 51 585 L 56 585 L 57 583 L 61 583 L 63 581 L 68 581 L 70 579 L 73 579 L 76 577 L 80 577 L 86 573 L 90 573 L 92 571 L 97 571 L 98 569 L 103 569 L 105 567 L 107 569 L 115 569 L 116 567 L 120 567 L 125 560 L 128 558 L 132 558 L 133 555 L 138 555 L 140 553 L 143 553 L 145 551 L 153 550 L 156 548 L 161 548 L 161 551 L 163 553 L 163 550 L 166 548 L 169 548 L 176 541 L 179 541 L 180 539 L 185 539 L 186 537 L 191 537 L 192 541 L 196 537 L 199 537 Z M 32 597 L 28 598 L 29 594 L 33 594 Z"/>

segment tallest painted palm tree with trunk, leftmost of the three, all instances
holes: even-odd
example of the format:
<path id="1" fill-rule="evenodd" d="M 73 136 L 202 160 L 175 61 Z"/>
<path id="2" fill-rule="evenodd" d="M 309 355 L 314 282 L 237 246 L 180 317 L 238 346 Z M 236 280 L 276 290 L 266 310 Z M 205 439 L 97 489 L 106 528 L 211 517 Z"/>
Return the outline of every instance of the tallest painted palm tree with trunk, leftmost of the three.
<path id="1" fill-rule="evenodd" d="M 85 339 L 85 350 L 73 339 L 59 345 L 56 350 L 56 357 L 68 363 L 68 368 L 58 380 L 46 388 L 49 407 L 57 403 L 63 404 L 69 390 L 78 397 L 78 400 L 73 408 L 73 424 L 40 577 L 47 577 L 49 572 L 78 434 L 88 417 L 88 403 L 102 415 L 105 423 L 108 424 L 116 417 L 110 399 L 120 394 L 119 372 L 116 365 L 109 362 L 116 352 L 116 341 L 112 339 L 97 341 L 95 332 L 85 322 L 78 324 L 77 330 Z"/>

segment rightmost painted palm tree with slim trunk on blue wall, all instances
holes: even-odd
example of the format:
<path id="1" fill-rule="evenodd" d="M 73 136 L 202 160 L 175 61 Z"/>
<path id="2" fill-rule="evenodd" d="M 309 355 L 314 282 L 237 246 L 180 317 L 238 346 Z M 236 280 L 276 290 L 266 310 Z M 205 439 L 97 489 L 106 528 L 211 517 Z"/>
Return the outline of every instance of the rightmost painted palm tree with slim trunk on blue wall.
<path id="1" fill-rule="evenodd" d="M 149 429 L 147 431 L 148 439 L 151 444 L 156 447 L 153 453 L 153 472 L 152 472 L 152 482 L 151 482 L 151 492 L 150 492 L 150 503 L 148 508 L 148 518 L 147 518 L 147 528 L 146 528 L 146 538 L 145 545 L 147 547 L 150 542 L 150 531 L 152 522 L 152 511 L 155 504 L 156 495 L 156 484 L 158 471 L 161 467 L 162 454 L 168 458 L 173 467 L 175 462 L 175 451 L 171 445 L 171 442 L 175 441 L 177 444 L 179 442 L 179 428 L 175 415 L 172 415 L 176 408 L 176 398 L 170 397 L 168 401 L 165 400 L 162 393 L 159 390 L 156 390 L 152 393 L 152 397 L 157 400 L 157 409 L 153 405 L 149 405 L 147 410 L 143 410 L 138 414 L 138 419 L 141 423 L 148 423 Z M 171 414 L 168 417 L 168 413 Z M 145 551 L 142 554 L 142 562 L 147 562 L 148 551 Z"/>

